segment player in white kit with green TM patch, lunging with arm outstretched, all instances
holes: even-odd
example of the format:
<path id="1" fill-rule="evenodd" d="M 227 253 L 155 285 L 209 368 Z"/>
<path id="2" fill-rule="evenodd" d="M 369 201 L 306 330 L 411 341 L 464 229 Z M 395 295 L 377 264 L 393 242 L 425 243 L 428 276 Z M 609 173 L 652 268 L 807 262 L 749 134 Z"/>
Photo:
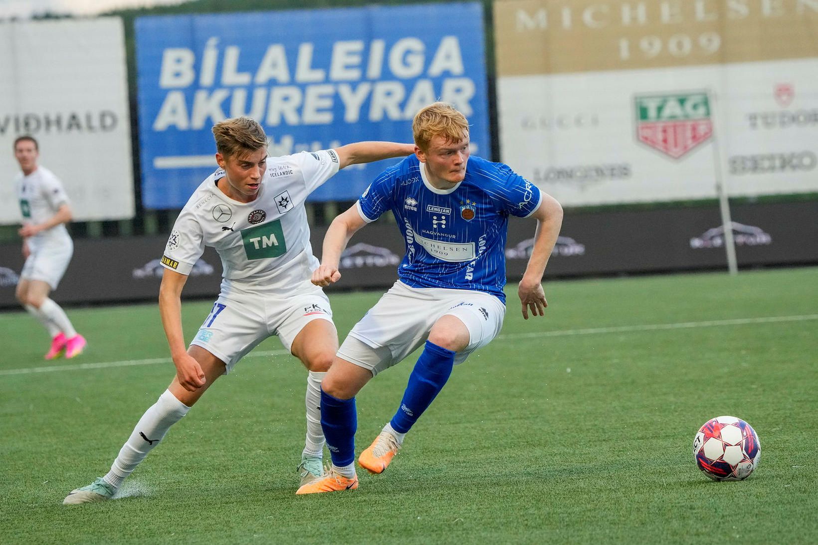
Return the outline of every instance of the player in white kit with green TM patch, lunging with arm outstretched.
<path id="1" fill-rule="evenodd" d="M 107 475 L 64 503 L 110 499 L 124 479 L 219 376 L 276 335 L 308 368 L 307 438 L 299 471 L 322 475 L 321 380 L 338 349 L 330 302 L 312 285 L 304 201 L 349 164 L 408 155 L 411 144 L 357 142 L 335 150 L 267 157 L 263 128 L 246 117 L 213 126 L 219 169 L 196 189 L 173 226 L 161 263 L 160 314 L 176 376 L 133 429 Z M 222 259 L 221 293 L 185 350 L 182 287 L 205 245 Z"/>

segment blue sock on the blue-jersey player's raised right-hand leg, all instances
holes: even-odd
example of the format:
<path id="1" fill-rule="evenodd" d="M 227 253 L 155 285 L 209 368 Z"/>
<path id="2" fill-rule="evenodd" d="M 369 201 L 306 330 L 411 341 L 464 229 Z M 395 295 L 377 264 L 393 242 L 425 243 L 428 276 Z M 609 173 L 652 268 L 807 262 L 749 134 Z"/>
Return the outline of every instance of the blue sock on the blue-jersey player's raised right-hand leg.
<path id="1" fill-rule="evenodd" d="M 455 354 L 452 350 L 444 349 L 442 346 L 435 345 L 429 340 L 426 341 L 426 347 L 423 354 L 420 354 L 415 368 L 409 376 L 409 384 L 407 390 L 403 393 L 401 406 L 398 412 L 392 417 L 389 424 L 393 430 L 398 433 L 405 434 L 411 426 L 420 418 L 420 415 L 429 408 L 434 398 L 438 395 L 449 376 L 452 374 L 452 367 L 455 364 Z M 330 436 L 326 434 L 324 429 L 327 444 L 330 442 Z M 335 458 L 333 458 L 335 461 Z"/>

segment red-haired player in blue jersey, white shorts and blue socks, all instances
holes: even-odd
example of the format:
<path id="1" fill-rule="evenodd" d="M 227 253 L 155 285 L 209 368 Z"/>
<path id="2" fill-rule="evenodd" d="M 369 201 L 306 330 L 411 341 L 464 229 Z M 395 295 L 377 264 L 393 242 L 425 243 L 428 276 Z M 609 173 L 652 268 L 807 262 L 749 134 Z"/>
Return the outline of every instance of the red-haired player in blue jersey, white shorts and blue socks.
<path id="1" fill-rule="evenodd" d="M 341 277 L 341 252 L 354 232 L 391 210 L 406 241 L 398 282 L 349 332 L 321 382 L 321 426 L 333 465 L 298 493 L 357 489 L 355 395 L 370 379 L 425 344 L 392 420 L 358 463 L 389 466 L 404 437 L 443 389 L 452 366 L 500 332 L 506 313 L 506 232 L 510 215 L 537 219 L 519 282 L 523 317 L 542 316 L 542 274 L 562 223 L 562 208 L 506 164 L 469 156 L 469 124 L 443 102 L 412 123 L 415 155 L 385 170 L 324 238 L 312 283 Z"/>

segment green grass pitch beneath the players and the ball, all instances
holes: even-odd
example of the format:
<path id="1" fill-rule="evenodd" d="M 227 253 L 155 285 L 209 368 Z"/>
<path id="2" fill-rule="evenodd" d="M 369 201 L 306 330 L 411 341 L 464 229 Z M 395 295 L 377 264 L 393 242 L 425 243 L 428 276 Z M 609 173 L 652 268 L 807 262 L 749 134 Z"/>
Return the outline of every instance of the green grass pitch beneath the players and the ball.
<path id="1" fill-rule="evenodd" d="M 310 497 L 294 495 L 305 372 L 271 339 L 172 428 L 121 498 L 62 506 L 106 473 L 173 376 L 159 313 L 70 309 L 89 348 L 56 363 L 42 360 L 33 319 L 2 313 L 2 541 L 818 542 L 818 269 L 550 281 L 546 317 L 528 321 L 515 288 L 501 336 L 456 367 L 389 470 Z M 330 295 L 339 334 L 379 296 Z M 183 305 L 188 338 L 210 304 Z M 357 452 L 413 363 L 358 395 Z M 726 414 L 762 444 L 741 482 L 712 482 L 692 459 L 699 426 Z"/>

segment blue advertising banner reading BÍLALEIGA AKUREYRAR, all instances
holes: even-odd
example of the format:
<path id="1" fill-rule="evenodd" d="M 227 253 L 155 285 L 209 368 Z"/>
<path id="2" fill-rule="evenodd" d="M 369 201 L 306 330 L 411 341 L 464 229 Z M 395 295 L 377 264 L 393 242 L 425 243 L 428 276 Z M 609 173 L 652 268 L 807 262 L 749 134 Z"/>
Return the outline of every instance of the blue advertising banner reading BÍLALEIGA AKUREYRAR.
<path id="1" fill-rule="evenodd" d="M 136 21 L 142 203 L 181 208 L 217 168 L 213 124 L 249 115 L 271 155 L 362 140 L 411 142 L 436 100 L 488 156 L 483 8 L 477 2 L 150 16 Z M 352 165 L 312 200 L 354 200 L 397 160 Z"/>

